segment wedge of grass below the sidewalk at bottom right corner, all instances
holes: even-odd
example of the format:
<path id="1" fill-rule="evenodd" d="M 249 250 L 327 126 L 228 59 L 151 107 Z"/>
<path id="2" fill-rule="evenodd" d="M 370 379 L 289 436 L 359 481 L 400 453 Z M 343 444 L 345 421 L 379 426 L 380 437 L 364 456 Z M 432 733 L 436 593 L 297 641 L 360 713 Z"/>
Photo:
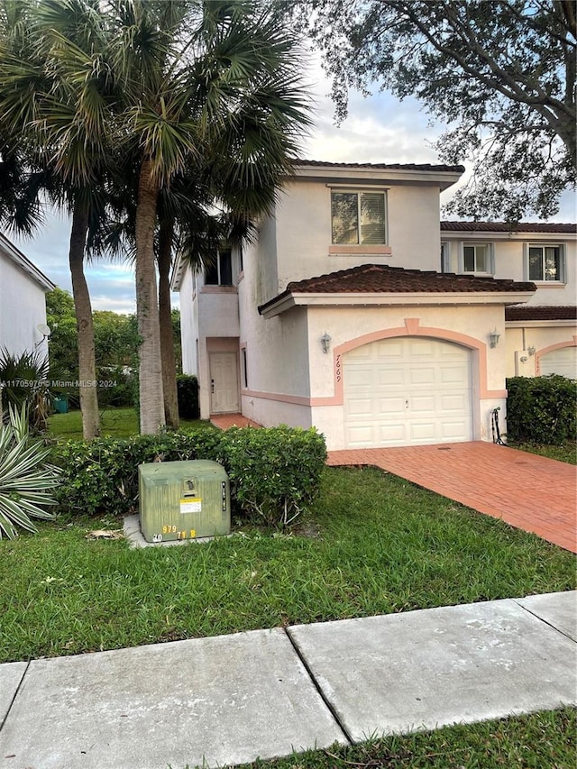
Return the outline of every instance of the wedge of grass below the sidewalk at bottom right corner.
<path id="1" fill-rule="evenodd" d="M 574 769 L 577 711 L 545 710 L 479 724 L 333 746 L 238 769 Z"/>

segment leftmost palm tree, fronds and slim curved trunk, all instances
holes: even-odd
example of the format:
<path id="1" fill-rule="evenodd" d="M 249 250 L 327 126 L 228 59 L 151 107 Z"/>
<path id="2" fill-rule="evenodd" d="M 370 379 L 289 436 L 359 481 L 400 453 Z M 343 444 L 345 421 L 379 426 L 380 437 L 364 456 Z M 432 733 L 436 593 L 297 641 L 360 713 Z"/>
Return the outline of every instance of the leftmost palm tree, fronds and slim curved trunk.
<path id="1" fill-rule="evenodd" d="M 89 385 L 96 380 L 96 363 L 84 259 L 90 227 L 104 215 L 105 125 L 99 107 L 105 78 L 95 66 L 104 30 L 96 2 L 38 5 L 5 0 L 1 10 L 3 160 L 9 166 L 20 160 L 27 169 L 10 194 L 7 185 L 3 190 L 3 218 L 20 232 L 32 233 L 28 223 L 42 193 L 71 215 L 69 267 L 78 324 L 78 373 L 87 383 L 80 387 L 80 407 L 83 435 L 89 439 L 98 435 L 99 426 L 97 390 Z M 78 90 L 71 85 L 78 73 L 84 77 L 77 100 Z M 11 151 L 14 147 L 18 150 Z"/>

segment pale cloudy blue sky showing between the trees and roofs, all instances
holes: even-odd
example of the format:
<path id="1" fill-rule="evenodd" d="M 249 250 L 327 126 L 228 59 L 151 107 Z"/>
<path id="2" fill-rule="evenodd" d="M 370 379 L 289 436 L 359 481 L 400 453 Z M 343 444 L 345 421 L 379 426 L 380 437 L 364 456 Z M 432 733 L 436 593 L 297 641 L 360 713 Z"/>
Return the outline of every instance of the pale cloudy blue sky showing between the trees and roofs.
<path id="1" fill-rule="evenodd" d="M 309 160 L 357 163 L 437 163 L 433 142 L 444 125 L 429 124 L 429 117 L 416 99 L 399 102 L 388 93 L 364 97 L 356 91 L 349 96 L 349 116 L 334 124 L 330 82 L 320 63 L 311 56 L 307 81 L 315 105 L 315 125 L 303 144 L 302 157 Z M 451 190 L 441 196 L 445 203 Z M 559 214 L 551 221 L 575 221 L 575 195 L 566 193 Z M 68 246 L 69 219 L 54 213 L 32 240 L 5 233 L 50 280 L 71 292 Z M 93 309 L 118 313 L 136 312 L 133 271 L 123 264 L 97 261 L 86 269 Z M 172 304 L 179 305 L 173 294 Z"/>

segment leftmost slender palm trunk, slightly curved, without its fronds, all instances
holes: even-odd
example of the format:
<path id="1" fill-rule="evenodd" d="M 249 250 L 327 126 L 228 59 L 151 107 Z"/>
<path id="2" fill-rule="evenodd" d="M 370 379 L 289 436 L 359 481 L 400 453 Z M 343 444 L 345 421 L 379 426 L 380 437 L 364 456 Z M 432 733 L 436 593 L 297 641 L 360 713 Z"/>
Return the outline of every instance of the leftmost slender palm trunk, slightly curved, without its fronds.
<path id="1" fill-rule="evenodd" d="M 92 305 L 84 274 L 84 251 L 88 232 L 87 206 L 75 203 L 70 233 L 69 264 L 72 296 L 78 329 L 78 378 L 80 380 L 80 410 L 82 435 L 85 441 L 100 434 L 98 418 L 98 392 L 96 389 L 96 361 L 94 352 L 94 325 Z"/>

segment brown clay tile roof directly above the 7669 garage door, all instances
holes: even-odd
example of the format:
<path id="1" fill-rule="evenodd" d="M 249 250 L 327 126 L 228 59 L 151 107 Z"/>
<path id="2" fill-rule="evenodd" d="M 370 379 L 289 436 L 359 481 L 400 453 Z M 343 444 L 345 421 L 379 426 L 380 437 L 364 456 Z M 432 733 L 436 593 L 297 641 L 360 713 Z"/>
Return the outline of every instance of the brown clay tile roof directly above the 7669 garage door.
<path id="1" fill-rule="evenodd" d="M 350 270 L 339 270 L 317 278 L 289 283 L 287 294 L 353 294 L 353 293 L 462 293 L 489 291 L 535 291 L 533 283 L 515 280 L 477 278 L 453 272 L 405 270 L 381 264 L 362 264 Z"/>

